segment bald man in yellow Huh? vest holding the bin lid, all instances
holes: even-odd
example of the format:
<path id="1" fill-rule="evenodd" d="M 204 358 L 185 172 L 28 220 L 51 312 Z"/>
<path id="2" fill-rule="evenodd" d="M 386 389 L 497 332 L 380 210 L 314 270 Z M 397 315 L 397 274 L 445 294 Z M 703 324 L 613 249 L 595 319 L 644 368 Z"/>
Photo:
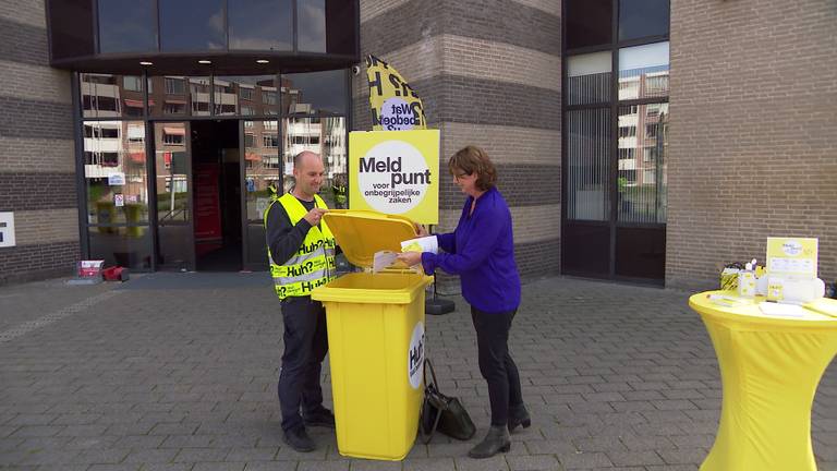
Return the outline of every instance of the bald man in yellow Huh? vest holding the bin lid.
<path id="1" fill-rule="evenodd" d="M 322 220 L 328 207 L 317 194 L 324 171 L 319 155 L 298 154 L 295 185 L 289 193 L 275 195 L 265 210 L 267 256 L 284 325 L 278 386 L 282 432 L 284 442 L 298 451 L 316 448 L 306 425 L 335 426 L 335 415 L 323 407 L 320 386 L 328 352 L 326 312 L 311 299 L 311 291 L 335 279 L 336 271 L 335 237 Z"/>

